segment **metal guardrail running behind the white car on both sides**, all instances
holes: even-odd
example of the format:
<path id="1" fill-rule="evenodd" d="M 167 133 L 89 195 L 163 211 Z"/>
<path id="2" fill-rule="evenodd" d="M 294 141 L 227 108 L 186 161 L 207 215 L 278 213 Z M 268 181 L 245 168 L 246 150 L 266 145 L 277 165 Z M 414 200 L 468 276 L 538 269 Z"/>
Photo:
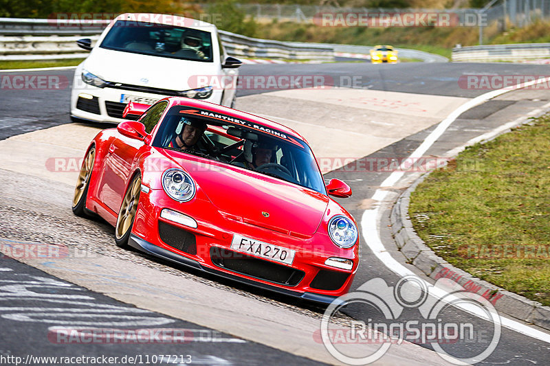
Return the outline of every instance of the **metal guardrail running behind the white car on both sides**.
<path id="1" fill-rule="evenodd" d="M 0 18 L 0 60 L 58 60 L 85 58 L 75 41 L 97 41 L 109 21 L 57 21 L 50 19 Z M 334 60 L 327 45 L 292 45 L 219 31 L 228 54 L 245 58 L 287 60 Z"/>

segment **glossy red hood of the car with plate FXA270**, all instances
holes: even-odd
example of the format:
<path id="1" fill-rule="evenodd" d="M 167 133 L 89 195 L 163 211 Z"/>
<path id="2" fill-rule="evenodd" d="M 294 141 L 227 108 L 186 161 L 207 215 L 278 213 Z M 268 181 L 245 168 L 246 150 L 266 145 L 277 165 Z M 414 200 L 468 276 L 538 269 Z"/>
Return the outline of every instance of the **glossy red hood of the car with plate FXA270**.
<path id="1" fill-rule="evenodd" d="M 194 160 L 175 162 L 225 218 L 303 236 L 312 236 L 320 225 L 329 203 L 324 194 L 260 173 Z"/>

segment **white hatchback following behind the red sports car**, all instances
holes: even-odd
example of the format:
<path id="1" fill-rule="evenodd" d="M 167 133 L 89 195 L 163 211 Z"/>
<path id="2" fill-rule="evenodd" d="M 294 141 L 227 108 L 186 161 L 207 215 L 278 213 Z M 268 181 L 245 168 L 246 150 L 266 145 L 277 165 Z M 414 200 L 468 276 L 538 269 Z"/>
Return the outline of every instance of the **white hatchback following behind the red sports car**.
<path id="1" fill-rule="evenodd" d="M 74 73 L 71 119 L 122 122 L 128 102 L 154 104 L 166 96 L 234 105 L 240 60 L 227 56 L 217 27 L 168 14 L 117 16 Z"/>

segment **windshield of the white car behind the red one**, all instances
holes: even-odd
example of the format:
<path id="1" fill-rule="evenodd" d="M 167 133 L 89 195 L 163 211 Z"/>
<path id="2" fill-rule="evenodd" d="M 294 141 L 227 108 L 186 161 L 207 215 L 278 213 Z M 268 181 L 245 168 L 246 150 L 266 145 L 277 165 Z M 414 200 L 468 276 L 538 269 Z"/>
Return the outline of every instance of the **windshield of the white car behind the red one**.
<path id="1" fill-rule="evenodd" d="M 210 32 L 158 23 L 117 21 L 100 47 L 134 54 L 212 62 Z"/>

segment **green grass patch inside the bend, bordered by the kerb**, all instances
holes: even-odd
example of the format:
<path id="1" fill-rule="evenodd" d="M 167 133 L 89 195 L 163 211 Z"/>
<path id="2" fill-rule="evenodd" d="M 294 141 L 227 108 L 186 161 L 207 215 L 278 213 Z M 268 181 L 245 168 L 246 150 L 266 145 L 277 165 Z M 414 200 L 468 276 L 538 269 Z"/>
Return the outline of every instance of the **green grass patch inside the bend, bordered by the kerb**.
<path id="1" fill-rule="evenodd" d="M 450 264 L 550 306 L 550 115 L 432 172 L 409 213 Z"/>

